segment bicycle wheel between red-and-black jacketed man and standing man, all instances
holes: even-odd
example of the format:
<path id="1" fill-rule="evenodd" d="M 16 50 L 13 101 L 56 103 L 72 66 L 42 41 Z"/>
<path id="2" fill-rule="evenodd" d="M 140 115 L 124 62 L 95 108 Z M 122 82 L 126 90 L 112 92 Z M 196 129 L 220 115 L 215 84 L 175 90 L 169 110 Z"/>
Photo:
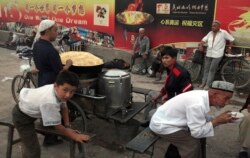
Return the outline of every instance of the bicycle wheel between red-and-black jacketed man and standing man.
<path id="1" fill-rule="evenodd" d="M 192 82 L 196 81 L 199 78 L 201 72 L 201 64 L 193 63 L 192 60 L 186 60 L 183 66 L 188 70 L 190 73 L 190 77 Z"/>

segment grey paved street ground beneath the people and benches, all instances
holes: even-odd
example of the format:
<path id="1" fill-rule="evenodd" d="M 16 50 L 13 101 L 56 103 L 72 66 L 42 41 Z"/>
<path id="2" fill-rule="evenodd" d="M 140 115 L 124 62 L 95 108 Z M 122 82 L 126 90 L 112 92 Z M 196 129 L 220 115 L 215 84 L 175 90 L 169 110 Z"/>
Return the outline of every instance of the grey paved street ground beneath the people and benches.
<path id="1" fill-rule="evenodd" d="M 14 75 L 20 74 L 19 65 L 21 59 L 17 57 L 15 51 L 0 48 L 0 118 L 10 115 L 14 106 L 14 100 L 11 95 L 11 79 Z M 149 88 L 159 91 L 162 87 L 161 82 L 154 82 L 154 79 L 146 76 L 132 75 L 132 84 L 136 87 Z M 231 105 L 221 111 L 212 109 L 212 115 L 216 115 L 225 110 L 238 111 L 241 105 L 245 102 L 245 91 L 240 91 L 234 97 Z M 249 89 L 248 89 L 249 91 Z M 143 101 L 144 96 L 134 94 L 136 101 Z M 140 120 L 142 113 L 136 116 Z M 86 144 L 87 158 L 129 158 L 132 152 L 124 150 L 122 142 L 117 144 L 117 137 L 112 121 L 99 119 L 95 116 L 88 119 L 88 131 L 97 134 L 97 137 Z M 7 129 L 0 127 L 0 157 L 5 157 Z M 43 141 L 43 136 L 39 135 L 40 143 Z M 159 140 L 155 145 L 154 158 L 162 158 L 167 147 L 167 143 Z M 67 158 L 69 157 L 68 143 L 64 141 L 63 144 L 54 147 L 41 147 L 42 158 Z M 207 158 L 236 158 L 240 149 L 238 142 L 238 124 L 230 123 L 221 125 L 215 129 L 215 136 L 207 138 Z M 14 145 L 13 158 L 21 158 L 20 143 Z M 138 158 L 146 157 L 145 155 L 137 155 Z"/>

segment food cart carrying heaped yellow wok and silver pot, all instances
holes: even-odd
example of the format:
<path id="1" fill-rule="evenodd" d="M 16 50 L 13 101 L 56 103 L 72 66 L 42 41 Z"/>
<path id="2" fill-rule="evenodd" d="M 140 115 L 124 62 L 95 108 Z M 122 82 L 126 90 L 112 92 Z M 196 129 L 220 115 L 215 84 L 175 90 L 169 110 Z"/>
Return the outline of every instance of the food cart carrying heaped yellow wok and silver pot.
<path id="1" fill-rule="evenodd" d="M 86 115 L 112 120 L 119 139 L 125 130 L 135 136 L 139 122 L 133 118 L 148 103 L 133 101 L 130 73 L 102 70 L 103 61 L 89 52 L 65 52 L 61 59 L 63 64 L 67 59 L 73 61 L 69 70 L 79 75 L 80 85 L 72 100 Z M 71 111 L 75 113 L 74 109 Z"/>

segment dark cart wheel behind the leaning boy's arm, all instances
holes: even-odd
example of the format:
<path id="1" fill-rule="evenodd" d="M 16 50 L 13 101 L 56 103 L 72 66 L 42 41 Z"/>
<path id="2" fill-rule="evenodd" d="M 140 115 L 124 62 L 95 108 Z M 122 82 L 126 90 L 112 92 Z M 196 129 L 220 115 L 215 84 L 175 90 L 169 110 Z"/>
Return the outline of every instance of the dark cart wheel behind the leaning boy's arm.
<path id="1" fill-rule="evenodd" d="M 87 119 L 82 108 L 73 100 L 67 102 L 69 109 L 69 119 L 72 129 L 78 130 L 81 133 L 86 132 L 87 130 Z M 81 157 L 85 157 L 85 147 L 84 143 L 77 143 L 79 154 Z M 75 149 L 75 147 L 73 147 Z M 75 151 L 70 153 L 70 157 L 75 156 Z"/>

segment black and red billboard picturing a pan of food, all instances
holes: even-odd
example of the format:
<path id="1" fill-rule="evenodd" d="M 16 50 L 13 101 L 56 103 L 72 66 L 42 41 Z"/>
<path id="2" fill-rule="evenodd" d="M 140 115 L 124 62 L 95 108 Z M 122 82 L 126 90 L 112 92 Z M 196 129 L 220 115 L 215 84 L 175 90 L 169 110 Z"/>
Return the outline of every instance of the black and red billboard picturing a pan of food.
<path id="1" fill-rule="evenodd" d="M 144 27 L 151 47 L 197 42 L 210 31 L 216 0 L 116 0 L 115 46 L 131 49 Z"/>

